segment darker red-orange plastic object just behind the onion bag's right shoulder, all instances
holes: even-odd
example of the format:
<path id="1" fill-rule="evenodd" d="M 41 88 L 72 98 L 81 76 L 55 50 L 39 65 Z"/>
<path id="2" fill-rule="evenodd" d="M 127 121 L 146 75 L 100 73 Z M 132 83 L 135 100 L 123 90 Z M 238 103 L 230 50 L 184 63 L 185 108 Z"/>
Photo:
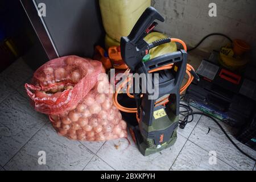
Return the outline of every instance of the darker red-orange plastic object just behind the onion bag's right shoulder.
<path id="1" fill-rule="evenodd" d="M 101 63 L 104 65 L 105 69 L 112 68 L 111 61 L 110 61 L 106 51 L 104 50 L 104 48 L 102 48 L 100 46 L 96 46 L 95 47 L 95 55 L 93 58 L 95 60 L 101 61 Z"/>

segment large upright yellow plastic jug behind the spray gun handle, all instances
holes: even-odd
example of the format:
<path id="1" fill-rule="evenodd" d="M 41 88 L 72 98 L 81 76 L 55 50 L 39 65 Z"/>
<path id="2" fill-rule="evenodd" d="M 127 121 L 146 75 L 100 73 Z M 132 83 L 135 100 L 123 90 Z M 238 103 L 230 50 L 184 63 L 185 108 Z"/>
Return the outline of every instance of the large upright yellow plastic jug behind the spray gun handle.
<path id="1" fill-rule="evenodd" d="M 120 41 L 128 36 L 151 0 L 100 0 L 102 22 L 106 33 Z"/>

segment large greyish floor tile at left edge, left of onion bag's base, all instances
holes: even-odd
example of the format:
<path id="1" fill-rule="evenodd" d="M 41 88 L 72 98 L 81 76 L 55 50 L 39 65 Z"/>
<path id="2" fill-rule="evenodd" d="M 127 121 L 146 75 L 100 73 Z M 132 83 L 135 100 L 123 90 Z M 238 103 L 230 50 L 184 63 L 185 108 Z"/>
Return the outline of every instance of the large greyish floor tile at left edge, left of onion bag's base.
<path id="1" fill-rule="evenodd" d="M 14 92 L 0 104 L 0 165 L 13 155 L 46 123 L 26 98 Z"/>

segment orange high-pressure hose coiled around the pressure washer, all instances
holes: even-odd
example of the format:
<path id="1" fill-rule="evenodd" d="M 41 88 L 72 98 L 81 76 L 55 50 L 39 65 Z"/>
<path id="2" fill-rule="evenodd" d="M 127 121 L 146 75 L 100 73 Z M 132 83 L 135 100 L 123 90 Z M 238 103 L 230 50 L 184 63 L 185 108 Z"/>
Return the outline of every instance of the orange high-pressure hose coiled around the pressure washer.
<path id="1" fill-rule="evenodd" d="M 186 44 L 180 40 L 180 39 L 174 39 L 174 38 L 170 38 L 171 39 L 171 42 L 177 42 L 177 43 L 180 43 L 184 50 L 187 51 L 187 46 Z M 164 65 L 163 67 L 160 67 L 160 68 L 156 68 L 156 69 L 152 69 L 151 71 L 149 71 L 148 73 L 153 73 L 153 72 L 156 72 L 156 71 L 160 71 L 160 70 L 164 70 L 164 69 L 171 69 L 172 68 L 172 65 L 173 64 L 168 64 L 168 65 Z M 187 64 L 187 69 L 186 69 L 186 73 L 188 75 L 188 81 L 186 82 L 186 84 L 180 89 L 180 94 L 183 93 L 187 88 L 188 86 L 191 84 L 191 82 L 193 81 L 193 76 L 191 75 L 190 71 L 194 70 L 194 68 Z M 127 75 L 128 73 L 130 72 L 130 69 L 127 69 L 125 71 L 125 75 Z M 132 96 L 130 93 L 129 93 L 129 90 L 130 90 L 130 84 L 131 84 L 131 78 L 130 77 L 127 77 L 127 80 L 126 81 L 123 81 L 122 84 L 120 84 L 117 88 L 117 90 L 115 90 L 115 94 L 113 96 L 113 102 L 114 102 L 114 105 L 121 111 L 124 111 L 126 113 L 137 113 L 137 108 L 129 108 L 129 107 L 123 107 L 122 105 L 120 105 L 117 101 L 117 96 L 118 96 L 118 93 L 120 92 L 120 90 L 123 88 L 124 85 L 126 85 L 128 83 L 128 86 L 127 86 L 127 95 L 130 97 L 130 98 L 134 98 L 134 96 Z M 143 97 L 143 96 L 141 96 Z M 163 98 L 163 100 L 160 100 L 160 101 L 157 101 L 155 102 L 155 106 L 159 106 L 159 105 L 164 105 L 164 104 L 167 104 L 168 102 L 168 97 L 166 98 Z M 136 114 L 137 115 L 137 114 Z M 137 115 L 137 119 L 138 119 L 138 115 Z M 139 119 L 138 119 L 139 121 Z"/>

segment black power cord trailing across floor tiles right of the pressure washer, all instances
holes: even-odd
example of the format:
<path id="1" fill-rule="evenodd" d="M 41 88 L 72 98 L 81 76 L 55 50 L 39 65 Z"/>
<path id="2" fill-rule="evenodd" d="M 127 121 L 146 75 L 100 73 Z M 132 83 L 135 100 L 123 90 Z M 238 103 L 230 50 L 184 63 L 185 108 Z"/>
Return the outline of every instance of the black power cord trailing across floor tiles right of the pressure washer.
<path id="1" fill-rule="evenodd" d="M 184 96 L 181 96 L 181 100 L 183 99 Z M 184 102 L 184 101 L 183 101 Z M 224 128 L 220 125 L 220 123 L 217 121 L 217 119 L 213 118 L 212 116 L 205 114 L 205 113 L 201 113 L 201 112 L 193 112 L 193 109 L 191 108 L 191 106 L 189 106 L 189 104 L 187 102 L 184 102 L 185 104 L 180 104 L 181 108 L 184 108 L 185 110 L 181 110 L 180 114 L 183 115 L 184 119 L 179 120 L 179 127 L 181 129 L 184 129 L 185 126 L 187 125 L 187 123 L 192 122 L 194 115 L 204 115 L 210 119 L 212 119 L 212 121 L 214 121 L 218 127 L 220 127 L 220 129 L 222 130 L 222 132 L 225 134 L 226 138 L 229 139 L 229 141 L 233 144 L 234 147 L 237 148 L 238 151 L 240 151 L 243 155 L 247 156 L 248 158 L 250 158 L 251 160 L 254 160 L 254 162 L 256 162 L 256 159 L 253 158 L 252 156 L 250 156 L 249 154 L 246 154 L 246 152 L 244 152 L 243 150 L 241 150 L 240 147 L 237 146 L 236 143 L 234 143 L 234 141 L 229 137 L 228 133 L 226 133 L 226 131 L 224 130 Z M 184 114 L 187 113 L 187 114 Z M 188 120 L 189 116 L 191 115 L 191 119 Z"/>

